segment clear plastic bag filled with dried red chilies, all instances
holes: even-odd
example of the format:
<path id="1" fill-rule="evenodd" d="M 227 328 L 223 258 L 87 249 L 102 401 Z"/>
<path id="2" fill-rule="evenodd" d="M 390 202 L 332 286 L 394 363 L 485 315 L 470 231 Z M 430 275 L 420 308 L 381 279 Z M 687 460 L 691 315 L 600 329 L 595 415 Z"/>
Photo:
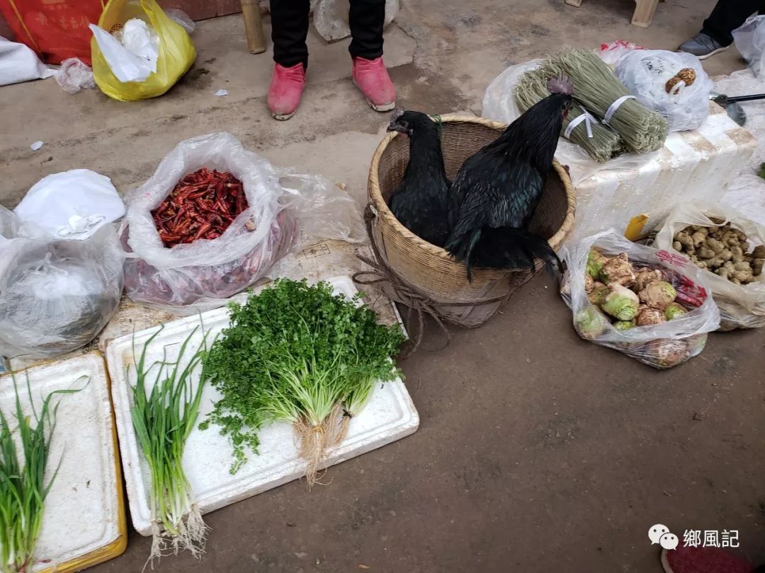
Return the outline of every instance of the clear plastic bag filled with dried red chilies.
<path id="1" fill-rule="evenodd" d="M 319 177 L 278 170 L 231 134 L 181 141 L 125 200 L 125 291 L 177 314 L 223 306 L 295 246 L 299 223 L 344 238 L 347 228 L 328 219 L 359 219 L 358 208 L 338 193 Z"/>

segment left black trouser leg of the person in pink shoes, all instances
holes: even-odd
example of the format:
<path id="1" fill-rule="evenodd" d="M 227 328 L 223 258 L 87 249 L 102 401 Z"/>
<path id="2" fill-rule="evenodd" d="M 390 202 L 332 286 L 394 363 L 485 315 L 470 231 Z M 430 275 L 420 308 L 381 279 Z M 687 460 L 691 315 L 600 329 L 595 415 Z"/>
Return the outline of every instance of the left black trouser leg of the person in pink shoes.
<path id="1" fill-rule="evenodd" d="M 271 0 L 271 39 L 274 61 L 285 67 L 308 66 L 308 12 L 310 0 Z"/>

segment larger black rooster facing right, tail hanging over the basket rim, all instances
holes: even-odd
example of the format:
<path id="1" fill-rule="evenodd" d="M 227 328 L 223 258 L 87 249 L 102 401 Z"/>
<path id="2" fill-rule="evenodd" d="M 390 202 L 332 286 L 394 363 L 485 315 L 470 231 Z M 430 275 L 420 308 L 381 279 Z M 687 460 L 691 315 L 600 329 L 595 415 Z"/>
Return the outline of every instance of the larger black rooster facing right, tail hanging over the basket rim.
<path id="1" fill-rule="evenodd" d="M 541 258 L 549 270 L 560 260 L 544 238 L 526 231 L 552 168 L 573 86 L 551 79 L 552 92 L 469 157 L 450 189 L 451 235 L 446 250 L 464 261 L 467 279 L 474 267 L 535 269 Z"/>

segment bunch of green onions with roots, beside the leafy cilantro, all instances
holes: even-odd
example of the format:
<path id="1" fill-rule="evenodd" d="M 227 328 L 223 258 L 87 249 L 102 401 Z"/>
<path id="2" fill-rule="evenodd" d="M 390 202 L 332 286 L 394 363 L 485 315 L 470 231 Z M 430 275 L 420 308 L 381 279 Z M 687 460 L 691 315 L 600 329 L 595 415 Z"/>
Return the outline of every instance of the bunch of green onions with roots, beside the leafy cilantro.
<path id="1" fill-rule="evenodd" d="M 182 549 L 199 557 L 204 551 L 208 529 L 182 465 L 184 446 L 197 422 L 207 381 L 203 371 L 194 388 L 194 370 L 207 351 L 207 335 L 184 367 L 181 361 L 199 327 L 184 340 L 177 360 L 167 361 L 164 357 L 145 368 L 146 351 L 163 328 L 148 338 L 136 362 L 134 405 L 130 410 L 133 429 L 151 474 L 152 542 L 147 563 L 169 551 L 177 553 Z M 133 356 L 135 361 L 135 347 Z M 152 370 L 154 379 L 148 381 Z"/>

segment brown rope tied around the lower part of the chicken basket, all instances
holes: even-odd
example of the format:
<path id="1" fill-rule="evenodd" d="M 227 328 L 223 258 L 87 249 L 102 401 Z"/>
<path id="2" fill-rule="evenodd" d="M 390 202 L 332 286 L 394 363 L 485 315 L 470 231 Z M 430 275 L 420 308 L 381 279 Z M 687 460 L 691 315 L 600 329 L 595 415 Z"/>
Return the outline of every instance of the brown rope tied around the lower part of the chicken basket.
<path id="1" fill-rule="evenodd" d="M 502 296 L 494 296 L 490 299 L 471 300 L 469 303 L 441 303 L 435 299 L 432 299 L 430 296 L 418 292 L 415 286 L 410 285 L 409 283 L 405 282 L 402 277 L 399 277 L 399 274 L 397 274 L 395 270 L 389 267 L 389 265 L 385 262 L 385 259 L 380 254 L 372 234 L 372 223 L 375 219 L 376 212 L 374 211 L 372 204 L 369 203 L 366 206 L 366 209 L 364 209 L 364 222 L 366 223 L 366 232 L 369 234 L 369 242 L 372 244 L 374 260 L 361 254 L 356 254 L 356 257 L 371 267 L 371 269 L 360 270 L 359 272 L 354 273 L 352 278 L 354 283 L 362 285 L 389 283 L 393 293 L 396 294 L 397 301 L 407 306 L 409 309 L 406 313 L 407 330 L 411 329 L 412 315 L 415 312 L 417 313 L 417 332 L 413 336 L 410 332 L 409 342 L 407 342 L 403 348 L 400 354 L 401 358 L 409 358 L 412 356 L 412 354 L 418 351 L 418 348 L 420 348 L 420 345 L 422 344 L 423 330 L 425 327 L 425 316 L 430 316 L 438 325 L 438 328 L 441 329 L 441 332 L 444 333 L 446 342 L 444 342 L 444 344 L 439 348 L 435 348 L 435 350 L 442 350 L 443 348 L 446 348 L 451 342 L 451 334 L 449 333 L 448 329 L 446 328 L 446 324 L 444 323 L 450 323 L 456 326 L 460 326 L 464 329 L 477 329 L 479 326 L 483 326 L 488 321 L 493 319 L 494 316 L 496 316 L 496 313 L 500 312 L 503 304 L 506 303 L 507 299 L 509 299 L 509 297 L 513 294 L 513 290 L 509 290 Z M 489 316 L 482 319 L 480 322 L 477 322 L 477 324 L 470 326 L 461 325 L 455 322 L 453 319 L 444 315 L 444 313 L 438 309 L 439 306 L 467 307 L 490 303 L 500 304 L 496 307 L 496 309 L 494 309 L 493 312 L 491 312 Z"/>

